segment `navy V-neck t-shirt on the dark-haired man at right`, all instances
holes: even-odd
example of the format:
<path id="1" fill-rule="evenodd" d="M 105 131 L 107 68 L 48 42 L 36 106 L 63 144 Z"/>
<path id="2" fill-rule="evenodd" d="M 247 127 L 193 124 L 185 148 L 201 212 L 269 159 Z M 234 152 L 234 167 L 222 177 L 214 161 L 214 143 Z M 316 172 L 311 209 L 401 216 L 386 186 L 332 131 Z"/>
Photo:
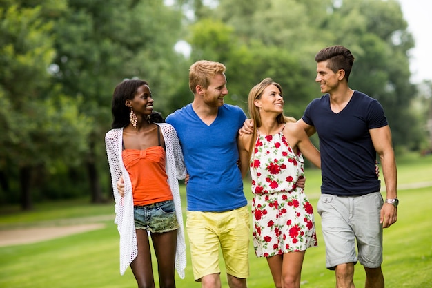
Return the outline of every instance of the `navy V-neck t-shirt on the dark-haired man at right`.
<path id="1" fill-rule="evenodd" d="M 320 138 L 322 193 L 352 196 L 380 191 L 369 129 L 388 124 L 376 99 L 354 91 L 346 107 L 334 113 L 326 94 L 308 104 L 302 119 L 315 126 Z"/>

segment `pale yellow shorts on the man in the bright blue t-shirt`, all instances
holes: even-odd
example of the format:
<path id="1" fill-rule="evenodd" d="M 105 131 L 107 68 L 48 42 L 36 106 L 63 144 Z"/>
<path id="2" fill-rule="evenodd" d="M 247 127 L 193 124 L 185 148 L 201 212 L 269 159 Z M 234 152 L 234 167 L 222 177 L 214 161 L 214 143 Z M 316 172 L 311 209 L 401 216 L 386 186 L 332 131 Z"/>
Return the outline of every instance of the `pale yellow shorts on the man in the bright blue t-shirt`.
<path id="1" fill-rule="evenodd" d="M 225 260 L 226 273 L 237 278 L 248 278 L 248 207 L 221 213 L 187 211 L 186 229 L 195 281 L 206 275 L 220 273 L 219 247 Z"/>

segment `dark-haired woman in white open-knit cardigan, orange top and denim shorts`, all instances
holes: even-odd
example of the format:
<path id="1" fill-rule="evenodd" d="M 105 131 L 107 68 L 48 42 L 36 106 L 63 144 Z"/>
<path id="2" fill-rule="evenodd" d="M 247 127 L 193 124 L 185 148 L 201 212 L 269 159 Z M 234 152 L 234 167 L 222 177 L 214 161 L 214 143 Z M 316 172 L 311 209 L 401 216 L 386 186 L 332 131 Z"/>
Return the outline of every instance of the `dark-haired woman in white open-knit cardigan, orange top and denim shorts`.
<path id="1" fill-rule="evenodd" d="M 150 240 L 157 258 L 159 287 L 175 287 L 174 271 L 184 278 L 186 245 L 178 179 L 186 175 L 173 126 L 153 112 L 146 81 L 126 80 L 112 96 L 112 130 L 106 149 L 120 233 L 121 273 L 128 265 L 138 287 L 155 287 Z M 116 182 L 124 178 L 124 193 Z"/>

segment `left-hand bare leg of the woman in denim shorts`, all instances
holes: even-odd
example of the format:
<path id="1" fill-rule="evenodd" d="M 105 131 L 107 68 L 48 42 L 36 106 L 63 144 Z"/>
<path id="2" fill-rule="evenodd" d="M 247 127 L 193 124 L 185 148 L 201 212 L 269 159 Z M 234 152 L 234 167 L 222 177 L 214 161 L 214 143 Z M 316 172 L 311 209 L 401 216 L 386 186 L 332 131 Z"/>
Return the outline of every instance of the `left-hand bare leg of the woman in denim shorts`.
<path id="1" fill-rule="evenodd" d="M 138 255 L 132 263 L 130 263 L 130 268 L 132 269 L 133 276 L 135 276 L 135 279 L 137 280 L 139 288 L 155 288 L 152 255 L 150 252 L 147 231 L 144 229 L 137 229 L 136 231 Z"/>

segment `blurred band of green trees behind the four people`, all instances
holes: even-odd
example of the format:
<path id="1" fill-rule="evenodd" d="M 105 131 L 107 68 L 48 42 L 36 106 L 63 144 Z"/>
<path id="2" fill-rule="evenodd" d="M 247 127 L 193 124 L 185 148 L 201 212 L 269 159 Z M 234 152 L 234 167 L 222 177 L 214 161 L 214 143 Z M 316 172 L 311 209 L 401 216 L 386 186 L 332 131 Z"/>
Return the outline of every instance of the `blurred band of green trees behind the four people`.
<path id="1" fill-rule="evenodd" d="M 344 45 L 356 58 L 350 86 L 380 101 L 397 156 L 429 154 L 432 75 L 413 66 L 431 63 L 414 54 L 413 28 L 428 26 L 405 15 L 415 18 L 415 2 L 0 0 L 0 206 L 110 201 L 115 86 L 145 79 L 166 117 L 193 100 L 188 68 L 199 59 L 226 65 L 227 103 L 247 114 L 248 91 L 272 77 L 299 119 L 320 97 L 315 54 Z"/>

